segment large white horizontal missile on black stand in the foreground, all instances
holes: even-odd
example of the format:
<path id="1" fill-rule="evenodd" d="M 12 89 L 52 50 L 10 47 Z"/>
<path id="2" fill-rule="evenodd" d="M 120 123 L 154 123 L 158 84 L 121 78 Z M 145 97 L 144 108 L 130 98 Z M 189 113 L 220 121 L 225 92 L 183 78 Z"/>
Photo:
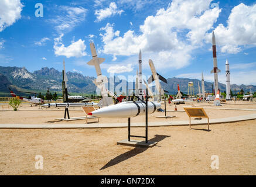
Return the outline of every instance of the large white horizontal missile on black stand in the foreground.
<path id="1" fill-rule="evenodd" d="M 148 114 L 154 113 L 160 108 L 161 103 L 148 102 Z M 117 105 L 111 105 L 105 108 L 94 110 L 93 112 L 88 113 L 88 115 L 108 118 L 128 118 L 145 115 L 145 110 L 146 105 L 141 101 L 126 101 L 118 103 Z"/>

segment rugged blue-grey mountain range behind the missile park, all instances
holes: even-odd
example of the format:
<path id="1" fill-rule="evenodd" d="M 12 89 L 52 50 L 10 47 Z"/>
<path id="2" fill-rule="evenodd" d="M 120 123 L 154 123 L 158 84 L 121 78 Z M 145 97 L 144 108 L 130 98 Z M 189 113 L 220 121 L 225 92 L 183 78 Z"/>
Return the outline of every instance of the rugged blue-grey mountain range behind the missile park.
<path id="1" fill-rule="evenodd" d="M 94 93 L 96 86 L 93 83 L 95 77 L 84 76 L 77 72 L 67 73 L 67 86 L 69 92 L 75 93 Z M 121 80 L 115 81 L 115 86 L 119 84 Z M 188 82 L 194 83 L 194 93 L 198 93 L 198 83 L 201 80 L 199 79 L 189 79 L 189 78 L 168 78 L 168 84 L 161 82 L 162 88 L 168 91 L 169 93 L 176 93 L 178 91 L 177 84 L 180 86 L 180 91 L 187 93 L 187 84 Z M 134 83 L 129 83 L 134 85 Z M 211 92 L 213 82 L 204 81 L 205 91 Z M 62 72 L 55 70 L 54 68 L 43 67 L 41 70 L 34 72 L 29 72 L 25 67 L 2 67 L 0 66 L 0 92 L 4 92 L 8 95 L 9 89 L 11 86 L 12 89 L 27 89 L 27 90 L 36 90 L 44 91 L 49 88 L 50 91 L 62 91 Z M 127 84 L 128 88 L 128 84 Z M 226 91 L 226 85 L 219 83 L 219 88 L 221 92 Z M 255 85 L 231 85 L 231 90 L 236 92 L 243 89 L 245 92 L 256 90 Z M 128 90 L 128 89 L 127 89 Z"/>

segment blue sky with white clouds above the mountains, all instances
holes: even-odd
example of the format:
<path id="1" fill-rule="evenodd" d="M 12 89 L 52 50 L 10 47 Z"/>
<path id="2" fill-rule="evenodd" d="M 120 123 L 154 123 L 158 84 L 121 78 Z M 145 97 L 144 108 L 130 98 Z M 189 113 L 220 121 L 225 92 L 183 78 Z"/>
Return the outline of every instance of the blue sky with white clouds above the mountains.
<path id="1" fill-rule="evenodd" d="M 226 58 L 231 84 L 256 85 L 255 1 L 95 0 L 0 2 L 0 65 L 29 71 L 53 67 L 96 76 L 91 59 L 94 41 L 104 75 L 135 75 L 142 51 L 163 77 L 201 78 L 213 82 L 211 31 L 216 34 L 219 81 L 225 82 Z M 12 13 L 10 13 L 12 12 Z"/>

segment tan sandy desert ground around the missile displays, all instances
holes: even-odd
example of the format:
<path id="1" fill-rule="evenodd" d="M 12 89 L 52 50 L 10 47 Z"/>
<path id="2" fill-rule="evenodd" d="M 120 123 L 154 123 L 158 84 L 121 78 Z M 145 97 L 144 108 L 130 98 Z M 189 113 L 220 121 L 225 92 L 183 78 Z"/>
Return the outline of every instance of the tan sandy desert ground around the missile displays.
<path id="1" fill-rule="evenodd" d="M 199 106 L 203 103 L 195 103 L 195 105 Z M 182 110 L 182 106 L 184 105 L 179 105 L 178 110 Z M 221 108 L 249 107 L 255 109 L 256 105 L 221 106 Z M 174 108 L 171 106 L 168 109 Z M 206 112 L 213 118 L 255 113 L 255 111 L 216 109 L 207 109 Z M 83 112 L 74 112 L 74 114 L 83 116 Z M 186 113 L 168 114 L 180 115 L 178 120 L 188 119 Z M 62 117 L 63 112 L 28 111 L 20 108 L 18 112 L 3 111 L 0 115 L 0 124 L 42 124 L 53 120 L 54 117 Z M 154 115 L 159 116 L 163 113 Z M 132 122 L 140 120 L 144 122 L 144 116 L 135 118 Z M 177 120 L 175 118 L 156 119 L 151 116 L 149 122 Z M 100 119 L 100 122 L 118 121 L 105 120 Z M 127 122 L 127 119 L 124 119 L 124 122 Z M 74 124 L 84 121 L 56 123 Z M 150 127 L 149 140 L 158 141 L 158 144 L 152 148 L 117 145 L 117 141 L 127 138 L 127 128 L 0 129 L 0 175 L 256 174 L 256 120 L 211 124 L 211 131 L 204 130 L 207 128 L 206 125 L 192 127 L 191 130 L 187 126 Z M 145 129 L 133 127 L 131 131 L 132 134 L 143 136 Z M 35 168 L 36 155 L 42 155 L 43 169 Z M 210 167 L 213 161 L 211 155 L 219 157 L 219 169 Z"/>

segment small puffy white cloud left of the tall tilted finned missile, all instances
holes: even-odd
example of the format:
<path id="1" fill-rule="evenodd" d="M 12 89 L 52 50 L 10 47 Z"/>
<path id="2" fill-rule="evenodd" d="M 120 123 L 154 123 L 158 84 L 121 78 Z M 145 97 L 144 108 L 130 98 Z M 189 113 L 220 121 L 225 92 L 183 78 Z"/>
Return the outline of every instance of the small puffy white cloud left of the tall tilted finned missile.
<path id="1" fill-rule="evenodd" d="M 62 37 L 63 34 L 60 35 L 60 37 L 57 37 L 54 39 L 54 54 L 56 56 L 66 56 L 67 58 L 70 57 L 82 57 L 86 56 L 86 45 L 84 44 L 84 40 L 77 40 L 77 41 L 71 41 L 70 46 L 65 47 L 62 43 Z"/>

